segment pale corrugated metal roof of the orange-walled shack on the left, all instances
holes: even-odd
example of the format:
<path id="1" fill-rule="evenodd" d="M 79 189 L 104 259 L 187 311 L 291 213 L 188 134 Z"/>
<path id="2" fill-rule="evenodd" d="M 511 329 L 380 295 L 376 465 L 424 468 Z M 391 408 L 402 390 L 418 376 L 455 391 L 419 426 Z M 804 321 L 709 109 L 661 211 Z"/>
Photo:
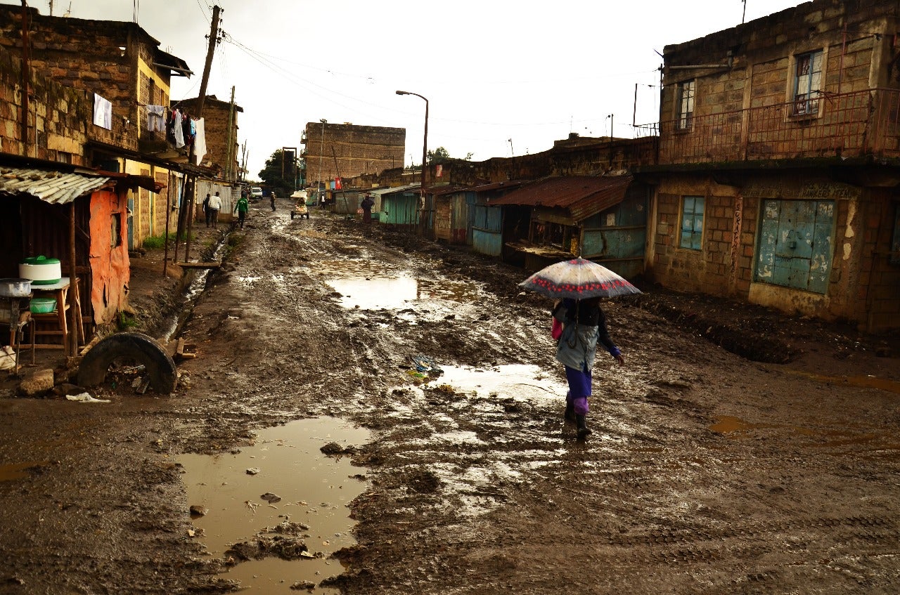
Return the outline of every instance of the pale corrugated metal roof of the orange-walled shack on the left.
<path id="1" fill-rule="evenodd" d="M 52 170 L 0 167 L 0 192 L 29 194 L 45 202 L 67 204 L 102 188 L 110 178 Z"/>

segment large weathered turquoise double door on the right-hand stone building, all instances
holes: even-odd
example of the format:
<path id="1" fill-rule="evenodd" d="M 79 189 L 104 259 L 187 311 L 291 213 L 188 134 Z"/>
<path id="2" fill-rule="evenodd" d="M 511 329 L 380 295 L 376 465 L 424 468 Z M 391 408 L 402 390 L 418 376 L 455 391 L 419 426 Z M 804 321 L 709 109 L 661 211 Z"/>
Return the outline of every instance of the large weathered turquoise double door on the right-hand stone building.
<path id="1" fill-rule="evenodd" d="M 826 293 L 833 227 L 833 200 L 764 201 L 754 280 Z"/>

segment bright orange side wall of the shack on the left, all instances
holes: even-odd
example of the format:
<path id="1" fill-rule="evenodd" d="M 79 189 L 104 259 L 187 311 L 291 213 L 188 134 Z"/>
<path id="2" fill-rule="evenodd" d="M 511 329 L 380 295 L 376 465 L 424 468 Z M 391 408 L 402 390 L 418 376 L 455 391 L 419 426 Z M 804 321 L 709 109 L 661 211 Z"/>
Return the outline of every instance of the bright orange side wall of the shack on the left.
<path id="1" fill-rule="evenodd" d="M 119 195 L 113 191 L 96 191 L 91 195 L 90 262 L 94 280 L 91 287 L 94 324 L 111 323 L 128 298 L 130 262 L 127 207 L 125 193 Z M 115 242 L 112 242 L 113 218 L 121 221 Z"/>

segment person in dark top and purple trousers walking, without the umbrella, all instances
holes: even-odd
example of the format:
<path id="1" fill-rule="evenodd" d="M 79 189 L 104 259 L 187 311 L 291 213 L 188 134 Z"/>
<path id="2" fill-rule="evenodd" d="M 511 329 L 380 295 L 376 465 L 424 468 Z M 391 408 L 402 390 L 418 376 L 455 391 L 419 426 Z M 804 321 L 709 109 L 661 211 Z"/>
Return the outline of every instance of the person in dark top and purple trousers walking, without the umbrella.
<path id="1" fill-rule="evenodd" d="M 565 376 L 569 381 L 565 419 L 577 424 L 578 438 L 584 440 L 590 434 L 586 416 L 591 393 L 590 369 L 594 367 L 597 342 L 603 343 L 620 366 L 625 364 L 625 358 L 609 338 L 599 297 L 563 299 L 556 302 L 553 314 L 563 324 L 563 334 L 556 347 L 556 360 L 565 366 Z"/>

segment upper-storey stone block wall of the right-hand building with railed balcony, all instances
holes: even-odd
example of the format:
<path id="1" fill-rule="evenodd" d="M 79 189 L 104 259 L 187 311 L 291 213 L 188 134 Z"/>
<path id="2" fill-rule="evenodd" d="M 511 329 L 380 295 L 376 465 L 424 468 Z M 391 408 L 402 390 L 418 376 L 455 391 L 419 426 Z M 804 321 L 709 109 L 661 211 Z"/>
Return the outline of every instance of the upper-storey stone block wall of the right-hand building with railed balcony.
<path id="1" fill-rule="evenodd" d="M 898 69 L 889 68 L 888 63 L 896 53 L 892 43 L 900 26 L 898 15 L 896 3 L 815 0 L 667 46 L 660 114 L 662 163 L 821 156 L 834 155 L 835 150 L 848 156 L 851 149 L 865 152 L 871 139 L 867 146 L 864 138 L 842 143 L 841 137 L 864 134 L 860 130 L 865 127 L 866 106 L 857 102 L 868 97 L 847 103 L 833 97 L 870 88 L 897 88 Z M 824 55 L 822 109 L 814 116 L 796 117 L 789 103 L 795 93 L 796 57 L 820 50 Z M 675 126 L 678 86 L 690 80 L 696 86 L 693 122 L 689 130 L 682 130 Z M 775 111 L 774 106 L 782 104 L 787 107 Z M 857 120 L 861 122 L 855 124 Z M 811 130 L 815 127 L 822 129 Z M 762 140 L 755 134 L 767 131 L 769 137 Z"/>

